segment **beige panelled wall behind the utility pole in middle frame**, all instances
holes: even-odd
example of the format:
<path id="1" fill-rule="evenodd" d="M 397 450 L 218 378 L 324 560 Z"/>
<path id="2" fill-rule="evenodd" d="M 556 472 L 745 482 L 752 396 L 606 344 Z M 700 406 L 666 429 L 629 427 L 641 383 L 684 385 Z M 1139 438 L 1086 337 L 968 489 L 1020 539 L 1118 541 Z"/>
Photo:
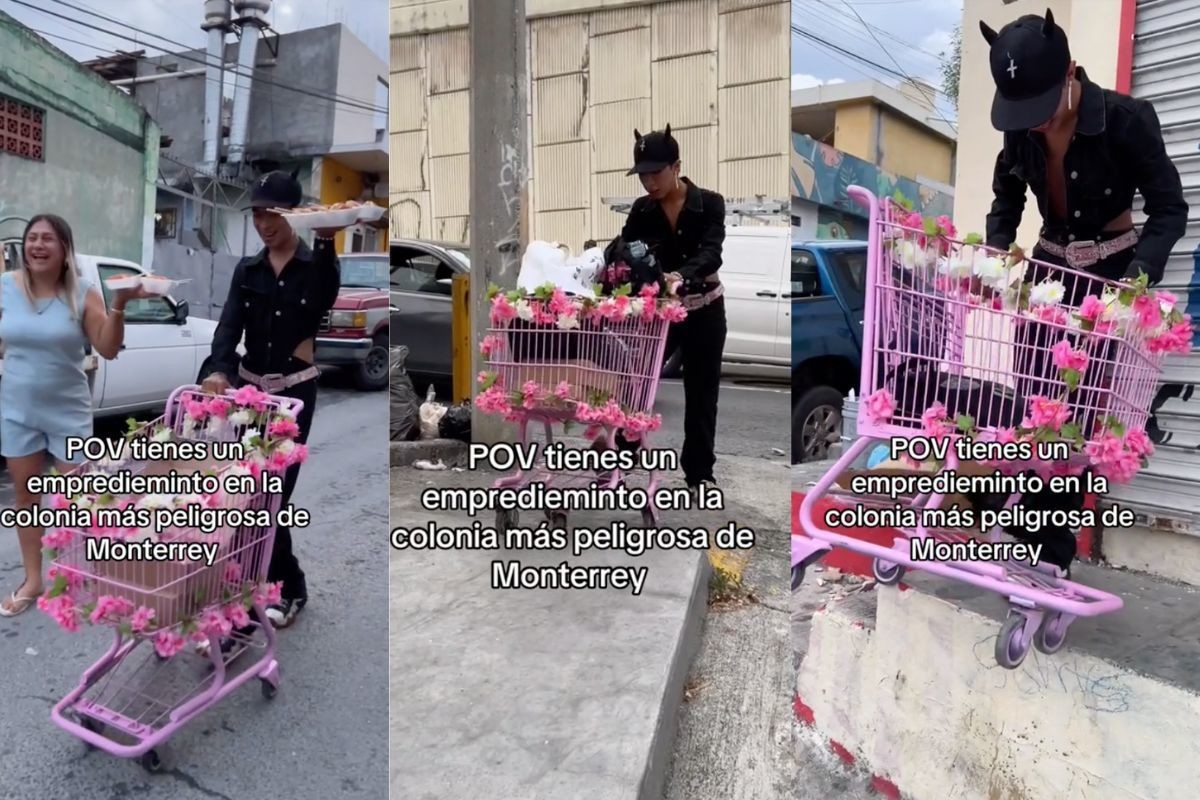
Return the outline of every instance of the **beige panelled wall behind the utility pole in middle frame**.
<path id="1" fill-rule="evenodd" d="M 671 0 L 529 23 L 532 235 L 578 249 L 620 230 L 605 198 L 642 194 L 625 172 L 634 128 L 671 124 L 683 170 L 728 199 L 788 196 L 790 4 Z M 466 31 L 392 40 L 392 225 L 468 234 Z"/>

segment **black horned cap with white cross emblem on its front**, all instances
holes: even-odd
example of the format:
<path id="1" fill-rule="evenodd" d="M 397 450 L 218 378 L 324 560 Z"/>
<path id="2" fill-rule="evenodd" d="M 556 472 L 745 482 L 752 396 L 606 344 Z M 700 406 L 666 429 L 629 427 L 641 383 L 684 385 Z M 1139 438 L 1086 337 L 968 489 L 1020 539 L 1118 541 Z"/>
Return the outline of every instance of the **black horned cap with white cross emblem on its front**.
<path id="1" fill-rule="evenodd" d="M 980 20 L 979 30 L 991 46 L 991 77 L 996 96 L 991 125 L 997 131 L 1028 131 L 1049 121 L 1058 103 L 1070 67 L 1067 34 L 1046 16 L 1026 14 L 997 34 Z"/>

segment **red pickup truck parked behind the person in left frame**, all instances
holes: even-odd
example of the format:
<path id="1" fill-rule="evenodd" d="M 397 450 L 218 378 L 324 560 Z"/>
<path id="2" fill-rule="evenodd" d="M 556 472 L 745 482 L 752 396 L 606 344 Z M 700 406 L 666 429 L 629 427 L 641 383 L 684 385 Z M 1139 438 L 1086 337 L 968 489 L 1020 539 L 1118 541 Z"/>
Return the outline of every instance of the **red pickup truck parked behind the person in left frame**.
<path id="1" fill-rule="evenodd" d="M 388 254 L 344 253 L 342 288 L 317 333 L 317 363 L 346 367 L 364 391 L 388 386 Z"/>

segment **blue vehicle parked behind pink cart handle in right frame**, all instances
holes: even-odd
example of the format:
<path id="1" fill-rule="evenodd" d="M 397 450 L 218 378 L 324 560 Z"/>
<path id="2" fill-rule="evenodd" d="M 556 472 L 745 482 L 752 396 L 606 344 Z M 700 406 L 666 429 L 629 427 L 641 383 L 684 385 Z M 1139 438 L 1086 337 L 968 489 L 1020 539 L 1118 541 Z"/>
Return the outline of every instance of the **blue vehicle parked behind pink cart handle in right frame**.
<path id="1" fill-rule="evenodd" d="M 792 463 L 821 461 L 841 438 L 841 403 L 863 360 L 865 241 L 792 245 Z"/>

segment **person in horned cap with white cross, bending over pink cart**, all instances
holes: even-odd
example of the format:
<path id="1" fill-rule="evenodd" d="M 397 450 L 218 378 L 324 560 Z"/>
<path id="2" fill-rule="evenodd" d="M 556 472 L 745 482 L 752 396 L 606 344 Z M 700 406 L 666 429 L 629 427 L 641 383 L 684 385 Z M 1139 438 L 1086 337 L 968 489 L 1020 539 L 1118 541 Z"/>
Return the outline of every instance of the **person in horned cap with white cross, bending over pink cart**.
<path id="1" fill-rule="evenodd" d="M 1043 221 L 1034 259 L 1111 281 L 1140 273 L 1151 284 L 1162 281 L 1171 248 L 1183 236 L 1188 206 L 1154 108 L 1088 80 L 1049 10 L 1044 18 L 1028 14 L 1000 32 L 982 22 L 979 26 L 991 48 L 996 83 L 991 122 L 1004 133 L 986 243 L 1001 249 L 1014 245 L 1028 188 Z M 1135 191 L 1147 217 L 1140 236 L 1133 224 Z M 1084 283 L 1075 291 L 1067 287 L 1064 302 L 1081 302 Z M 1040 363 L 1019 369 L 1033 377 L 1048 373 Z M 1025 498 L 1024 505 L 1080 509 L 1082 498 L 1043 493 Z M 1008 533 L 1030 537 L 1024 530 Z M 1037 539 L 1048 553 L 1043 560 L 1069 570 L 1075 557 L 1069 529 L 1045 528 Z"/>

